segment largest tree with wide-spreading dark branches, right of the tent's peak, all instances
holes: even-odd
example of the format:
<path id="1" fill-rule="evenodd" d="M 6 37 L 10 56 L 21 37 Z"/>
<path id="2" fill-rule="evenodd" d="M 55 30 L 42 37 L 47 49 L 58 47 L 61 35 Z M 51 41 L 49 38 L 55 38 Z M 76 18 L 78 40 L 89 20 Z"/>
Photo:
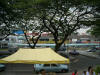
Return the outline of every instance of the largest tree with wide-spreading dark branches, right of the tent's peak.
<path id="1" fill-rule="evenodd" d="M 39 18 L 54 37 L 55 51 L 59 50 L 71 33 L 85 24 L 92 25 L 95 10 L 92 5 L 92 1 L 90 3 L 88 0 L 50 0 L 48 7 L 37 6 L 41 13 Z"/>

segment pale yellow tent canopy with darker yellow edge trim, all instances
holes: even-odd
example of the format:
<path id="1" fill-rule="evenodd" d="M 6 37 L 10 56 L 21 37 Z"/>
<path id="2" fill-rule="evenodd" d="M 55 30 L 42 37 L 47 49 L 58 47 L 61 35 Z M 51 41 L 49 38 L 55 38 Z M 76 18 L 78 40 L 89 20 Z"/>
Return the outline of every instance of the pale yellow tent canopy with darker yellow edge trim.
<path id="1" fill-rule="evenodd" d="M 0 63 L 28 63 L 28 64 L 50 64 L 67 63 L 69 59 L 54 52 L 51 48 L 22 49 L 16 53 L 0 59 Z"/>

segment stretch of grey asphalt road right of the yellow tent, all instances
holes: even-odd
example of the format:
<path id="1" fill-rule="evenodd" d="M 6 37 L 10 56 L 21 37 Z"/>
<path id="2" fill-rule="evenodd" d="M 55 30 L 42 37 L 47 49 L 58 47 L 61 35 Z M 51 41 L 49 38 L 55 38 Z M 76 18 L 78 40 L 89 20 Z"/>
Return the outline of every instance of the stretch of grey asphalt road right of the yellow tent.
<path id="1" fill-rule="evenodd" d="M 75 69 L 78 71 L 86 70 L 88 66 L 95 67 L 96 65 L 100 65 L 100 59 L 79 55 L 71 59 L 70 72 Z"/>

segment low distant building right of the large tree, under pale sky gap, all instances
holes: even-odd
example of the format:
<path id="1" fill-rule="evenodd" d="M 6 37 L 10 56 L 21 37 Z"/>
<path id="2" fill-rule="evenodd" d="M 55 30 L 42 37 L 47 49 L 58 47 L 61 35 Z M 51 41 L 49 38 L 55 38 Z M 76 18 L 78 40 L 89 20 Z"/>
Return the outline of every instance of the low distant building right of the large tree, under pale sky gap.
<path id="1" fill-rule="evenodd" d="M 100 38 L 92 35 L 72 34 L 69 36 L 70 43 L 100 43 Z"/>

